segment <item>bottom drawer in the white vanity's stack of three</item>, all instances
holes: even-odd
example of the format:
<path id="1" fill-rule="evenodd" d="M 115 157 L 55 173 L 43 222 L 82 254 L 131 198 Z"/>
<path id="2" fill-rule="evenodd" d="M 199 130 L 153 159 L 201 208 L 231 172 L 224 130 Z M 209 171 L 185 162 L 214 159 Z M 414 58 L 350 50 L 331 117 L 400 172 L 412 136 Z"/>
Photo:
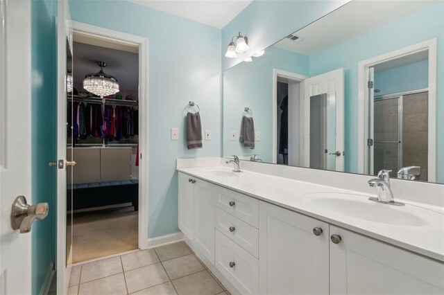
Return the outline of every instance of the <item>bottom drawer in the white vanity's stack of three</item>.
<path id="1" fill-rule="evenodd" d="M 216 231 L 216 269 L 241 294 L 258 294 L 259 260 L 242 249 L 223 233 Z M 230 265 L 231 263 L 231 265 Z"/>

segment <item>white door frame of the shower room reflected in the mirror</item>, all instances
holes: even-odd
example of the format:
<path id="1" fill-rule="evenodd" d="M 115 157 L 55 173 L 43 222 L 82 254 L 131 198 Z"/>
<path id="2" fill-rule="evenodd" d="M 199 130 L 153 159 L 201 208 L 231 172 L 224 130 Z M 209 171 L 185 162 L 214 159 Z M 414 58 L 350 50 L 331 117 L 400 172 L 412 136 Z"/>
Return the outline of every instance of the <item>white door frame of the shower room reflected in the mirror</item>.
<path id="1" fill-rule="evenodd" d="M 403 48 L 371 57 L 358 62 L 358 171 L 366 174 L 368 171 L 368 69 L 376 64 L 395 60 L 405 55 L 421 51 L 429 52 L 429 136 L 428 137 L 428 181 L 436 181 L 436 38 L 405 46 Z"/>

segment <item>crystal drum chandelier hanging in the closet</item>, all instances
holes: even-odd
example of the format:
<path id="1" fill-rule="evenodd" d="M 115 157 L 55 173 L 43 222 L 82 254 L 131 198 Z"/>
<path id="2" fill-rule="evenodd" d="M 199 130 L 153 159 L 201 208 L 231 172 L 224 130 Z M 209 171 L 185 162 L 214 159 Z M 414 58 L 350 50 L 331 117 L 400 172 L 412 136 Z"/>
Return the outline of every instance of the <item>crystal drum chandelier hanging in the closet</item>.
<path id="1" fill-rule="evenodd" d="M 99 73 L 90 73 L 85 75 L 83 79 L 83 88 L 95 94 L 96 96 L 110 96 L 119 92 L 119 83 L 112 75 L 103 73 L 103 68 L 106 66 L 105 62 L 97 62 L 100 66 Z"/>

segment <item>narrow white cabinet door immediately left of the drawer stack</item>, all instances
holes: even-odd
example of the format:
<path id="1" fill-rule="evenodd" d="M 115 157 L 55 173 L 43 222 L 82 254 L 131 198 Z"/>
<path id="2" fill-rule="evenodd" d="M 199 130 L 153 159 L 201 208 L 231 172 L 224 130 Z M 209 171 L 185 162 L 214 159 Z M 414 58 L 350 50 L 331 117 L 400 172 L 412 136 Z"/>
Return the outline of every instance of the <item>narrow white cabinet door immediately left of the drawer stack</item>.
<path id="1" fill-rule="evenodd" d="M 214 185 L 193 179 L 196 234 L 194 244 L 214 265 Z"/>

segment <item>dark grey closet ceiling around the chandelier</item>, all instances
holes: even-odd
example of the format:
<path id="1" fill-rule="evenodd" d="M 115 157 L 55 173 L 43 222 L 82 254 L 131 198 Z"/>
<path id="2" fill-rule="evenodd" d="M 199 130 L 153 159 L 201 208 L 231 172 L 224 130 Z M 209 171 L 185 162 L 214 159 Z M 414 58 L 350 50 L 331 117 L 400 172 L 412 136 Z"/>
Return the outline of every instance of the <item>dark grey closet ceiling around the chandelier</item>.
<path id="1" fill-rule="evenodd" d="M 103 46 L 106 46 L 105 44 Z M 100 67 L 97 62 L 106 62 L 103 69 L 119 82 L 121 94 L 137 93 L 139 89 L 139 55 L 103 46 L 74 42 L 73 45 L 73 78 L 77 91 L 83 89 L 83 79 L 88 73 L 97 73 Z"/>

